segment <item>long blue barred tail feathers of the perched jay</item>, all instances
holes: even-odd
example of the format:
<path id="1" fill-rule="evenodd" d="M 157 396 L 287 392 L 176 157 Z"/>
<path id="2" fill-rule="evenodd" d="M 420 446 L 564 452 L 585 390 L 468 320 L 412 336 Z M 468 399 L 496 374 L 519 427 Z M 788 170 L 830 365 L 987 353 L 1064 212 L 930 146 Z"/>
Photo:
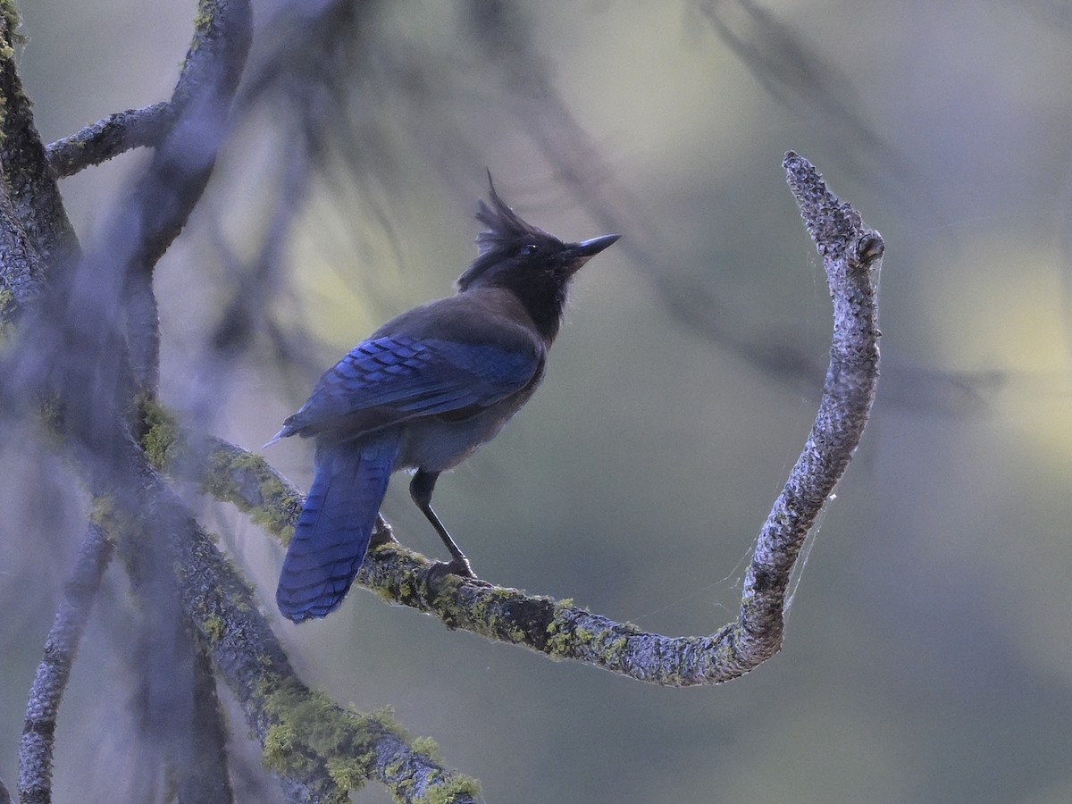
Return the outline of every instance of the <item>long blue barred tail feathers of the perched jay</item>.
<path id="1" fill-rule="evenodd" d="M 346 596 L 369 549 L 398 451 L 398 432 L 317 448 L 313 487 L 276 591 L 288 620 L 322 617 Z"/>

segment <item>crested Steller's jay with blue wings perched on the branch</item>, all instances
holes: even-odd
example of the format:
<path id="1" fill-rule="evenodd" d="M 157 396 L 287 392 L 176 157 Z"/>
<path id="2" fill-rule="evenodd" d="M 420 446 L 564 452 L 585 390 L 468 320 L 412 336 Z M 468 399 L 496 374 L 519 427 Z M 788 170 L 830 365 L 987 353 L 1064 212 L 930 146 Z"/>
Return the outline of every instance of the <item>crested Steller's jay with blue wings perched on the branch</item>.
<path id="1" fill-rule="evenodd" d="M 477 220 L 476 260 L 458 294 L 389 321 L 325 372 L 309 401 L 268 444 L 316 438 L 315 476 L 283 561 L 276 602 L 300 623 L 334 610 L 369 548 L 398 470 L 416 470 L 410 495 L 452 560 L 465 554 L 432 510 L 432 490 L 490 441 L 536 390 L 562 323 L 569 280 L 619 239 L 564 243 L 525 223 L 490 184 Z M 265 445 L 268 446 L 268 445 Z"/>

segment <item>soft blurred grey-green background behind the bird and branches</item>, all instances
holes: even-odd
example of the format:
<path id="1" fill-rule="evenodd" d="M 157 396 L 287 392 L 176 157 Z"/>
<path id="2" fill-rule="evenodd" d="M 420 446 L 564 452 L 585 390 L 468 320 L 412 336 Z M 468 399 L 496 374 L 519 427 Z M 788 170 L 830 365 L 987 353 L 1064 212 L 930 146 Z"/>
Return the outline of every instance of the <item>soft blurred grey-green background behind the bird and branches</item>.
<path id="1" fill-rule="evenodd" d="M 46 140 L 169 96 L 195 13 L 19 8 Z M 623 234 L 579 276 L 540 391 L 438 486 L 494 583 L 669 635 L 731 620 L 829 348 L 784 152 L 887 242 L 878 402 L 772 661 L 721 687 L 650 687 L 355 590 L 323 622 L 273 615 L 309 684 L 391 705 L 489 802 L 1072 801 L 1066 4 L 254 9 L 234 132 L 157 274 L 163 396 L 191 423 L 258 449 L 351 346 L 449 294 L 475 256 L 486 167 L 560 237 Z M 61 182 L 84 243 L 144 160 Z M 267 457 L 308 486 L 308 443 Z M 14 788 L 84 519 L 68 471 L 31 443 L 0 460 L 0 777 Z M 443 557 L 394 486 L 384 513 L 400 540 Z M 282 548 L 200 510 L 273 612 Z M 147 789 L 125 584 L 116 562 L 60 713 L 58 801 Z M 272 801 L 230 705 L 239 798 Z"/>

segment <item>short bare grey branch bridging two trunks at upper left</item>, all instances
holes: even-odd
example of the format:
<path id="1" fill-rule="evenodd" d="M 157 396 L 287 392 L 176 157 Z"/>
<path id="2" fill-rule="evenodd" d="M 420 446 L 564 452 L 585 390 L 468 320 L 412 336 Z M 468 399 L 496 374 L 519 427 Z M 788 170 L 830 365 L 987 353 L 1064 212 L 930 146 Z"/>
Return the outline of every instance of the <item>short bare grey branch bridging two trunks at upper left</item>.
<path id="1" fill-rule="evenodd" d="M 116 111 L 69 137 L 50 143 L 45 148 L 45 157 L 58 178 L 74 176 L 125 151 L 157 145 L 174 122 L 175 107 L 170 103 Z"/>

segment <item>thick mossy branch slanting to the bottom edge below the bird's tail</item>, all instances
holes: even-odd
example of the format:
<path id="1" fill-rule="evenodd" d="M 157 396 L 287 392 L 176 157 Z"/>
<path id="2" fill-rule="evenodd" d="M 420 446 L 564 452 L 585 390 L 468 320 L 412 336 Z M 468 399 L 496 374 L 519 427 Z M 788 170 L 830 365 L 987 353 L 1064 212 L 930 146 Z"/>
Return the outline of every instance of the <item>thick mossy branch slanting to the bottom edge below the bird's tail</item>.
<path id="1" fill-rule="evenodd" d="M 386 715 L 342 709 L 302 684 L 235 567 L 166 483 L 148 466 L 139 474 L 149 496 L 139 510 L 153 511 L 154 525 L 166 535 L 183 613 L 205 638 L 264 747 L 266 764 L 293 800 L 348 801 L 348 790 L 374 778 L 400 801 L 433 789 L 444 802 L 475 801 L 475 781 L 447 771 Z"/>

